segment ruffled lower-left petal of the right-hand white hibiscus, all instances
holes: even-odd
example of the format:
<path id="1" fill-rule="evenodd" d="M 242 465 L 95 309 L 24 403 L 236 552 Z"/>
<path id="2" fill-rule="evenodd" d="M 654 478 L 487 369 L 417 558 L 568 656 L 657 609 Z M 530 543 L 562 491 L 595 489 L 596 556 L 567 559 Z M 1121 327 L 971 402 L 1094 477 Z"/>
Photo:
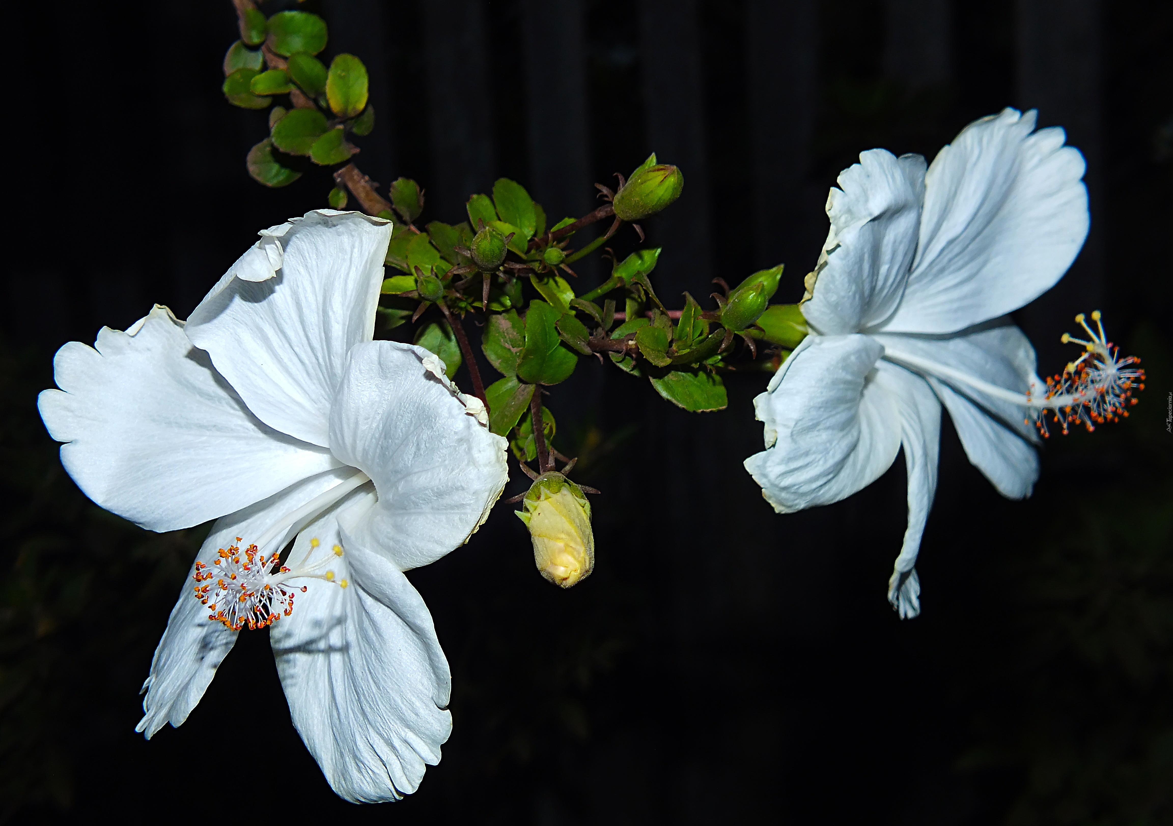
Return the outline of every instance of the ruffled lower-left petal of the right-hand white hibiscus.
<path id="1" fill-rule="evenodd" d="M 774 442 L 745 467 L 779 513 L 839 501 L 891 466 L 900 415 L 874 381 L 882 353 L 866 335 L 807 336 L 754 400 Z"/>

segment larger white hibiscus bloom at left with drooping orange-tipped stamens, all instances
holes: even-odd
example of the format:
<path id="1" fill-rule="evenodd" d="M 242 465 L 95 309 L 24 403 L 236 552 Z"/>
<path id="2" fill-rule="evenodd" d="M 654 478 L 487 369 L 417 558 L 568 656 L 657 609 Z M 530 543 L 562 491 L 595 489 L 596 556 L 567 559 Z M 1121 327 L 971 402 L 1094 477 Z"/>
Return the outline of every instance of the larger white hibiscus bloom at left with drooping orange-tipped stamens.
<path id="1" fill-rule="evenodd" d="M 293 723 L 354 801 L 413 792 L 440 759 L 448 663 L 402 572 L 462 544 L 507 478 L 506 441 L 442 363 L 372 341 L 389 237 L 328 210 L 272 227 L 187 323 L 156 306 L 62 347 L 40 397 L 99 505 L 152 531 L 217 520 L 138 730 L 183 723 L 238 630 L 271 626 Z"/>

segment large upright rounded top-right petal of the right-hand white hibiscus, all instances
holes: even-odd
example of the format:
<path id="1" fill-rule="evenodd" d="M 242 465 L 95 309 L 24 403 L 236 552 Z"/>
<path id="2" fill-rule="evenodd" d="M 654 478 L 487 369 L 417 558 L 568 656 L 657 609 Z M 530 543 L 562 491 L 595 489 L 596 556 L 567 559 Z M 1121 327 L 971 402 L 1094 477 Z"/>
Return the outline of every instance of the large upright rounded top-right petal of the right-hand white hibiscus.
<path id="1" fill-rule="evenodd" d="M 1013 109 L 968 125 L 929 168 L 920 247 L 883 328 L 951 333 L 1050 289 L 1087 237 L 1084 158 Z"/>

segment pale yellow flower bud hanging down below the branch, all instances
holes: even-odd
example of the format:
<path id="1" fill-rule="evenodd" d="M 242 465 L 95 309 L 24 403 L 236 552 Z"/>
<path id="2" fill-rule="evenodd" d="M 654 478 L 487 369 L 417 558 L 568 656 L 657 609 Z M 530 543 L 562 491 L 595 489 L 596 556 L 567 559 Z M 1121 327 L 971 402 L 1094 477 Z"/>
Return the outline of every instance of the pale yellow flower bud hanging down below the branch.
<path id="1" fill-rule="evenodd" d="M 582 489 L 557 471 L 537 477 L 517 518 L 534 540 L 534 562 L 555 585 L 569 588 L 595 569 L 590 503 Z"/>

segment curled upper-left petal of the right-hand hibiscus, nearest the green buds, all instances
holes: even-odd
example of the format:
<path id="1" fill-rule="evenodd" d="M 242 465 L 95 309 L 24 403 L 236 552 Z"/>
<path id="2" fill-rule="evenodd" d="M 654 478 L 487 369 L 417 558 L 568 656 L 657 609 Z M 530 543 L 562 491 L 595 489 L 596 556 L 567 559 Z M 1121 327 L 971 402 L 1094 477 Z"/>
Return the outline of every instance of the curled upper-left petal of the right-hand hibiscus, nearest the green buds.
<path id="1" fill-rule="evenodd" d="M 924 158 L 873 149 L 839 175 L 827 198 L 830 233 L 802 314 L 820 333 L 857 333 L 900 302 L 916 252 Z"/>

